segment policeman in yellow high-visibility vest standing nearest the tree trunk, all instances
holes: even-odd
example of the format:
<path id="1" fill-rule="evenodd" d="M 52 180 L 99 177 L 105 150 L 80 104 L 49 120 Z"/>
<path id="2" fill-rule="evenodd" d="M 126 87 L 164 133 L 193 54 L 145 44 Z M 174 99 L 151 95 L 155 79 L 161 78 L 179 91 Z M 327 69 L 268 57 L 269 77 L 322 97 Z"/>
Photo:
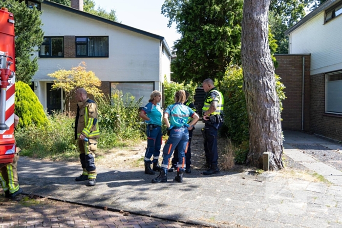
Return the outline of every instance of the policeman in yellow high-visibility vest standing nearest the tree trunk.
<path id="1" fill-rule="evenodd" d="M 203 175 L 212 175 L 219 173 L 217 166 L 217 131 L 223 122 L 223 95 L 214 86 L 211 79 L 206 79 L 202 83 L 204 91 L 207 93 L 202 108 L 204 129 L 204 151 L 209 165 L 209 169 L 203 172 Z"/>

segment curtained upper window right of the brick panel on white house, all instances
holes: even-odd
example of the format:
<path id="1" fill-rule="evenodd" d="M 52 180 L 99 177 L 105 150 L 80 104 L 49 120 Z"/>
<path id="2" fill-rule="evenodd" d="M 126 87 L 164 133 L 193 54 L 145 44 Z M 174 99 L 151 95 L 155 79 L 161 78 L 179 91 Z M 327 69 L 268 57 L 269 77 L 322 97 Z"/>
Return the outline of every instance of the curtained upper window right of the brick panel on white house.
<path id="1" fill-rule="evenodd" d="M 108 37 L 76 37 L 76 57 L 108 57 Z"/>

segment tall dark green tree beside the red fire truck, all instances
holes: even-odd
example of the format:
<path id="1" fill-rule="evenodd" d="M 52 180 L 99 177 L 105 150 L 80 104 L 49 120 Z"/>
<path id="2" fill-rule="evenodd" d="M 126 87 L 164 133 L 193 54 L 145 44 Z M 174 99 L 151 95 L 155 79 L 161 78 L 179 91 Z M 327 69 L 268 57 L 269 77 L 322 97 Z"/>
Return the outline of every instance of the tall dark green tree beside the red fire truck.
<path id="1" fill-rule="evenodd" d="M 16 79 L 31 83 L 38 70 L 38 58 L 32 56 L 38 51 L 44 36 L 40 18 L 42 13 L 36 8 L 29 9 L 24 1 L 4 0 L 0 1 L 0 7 L 8 8 L 14 15 Z"/>

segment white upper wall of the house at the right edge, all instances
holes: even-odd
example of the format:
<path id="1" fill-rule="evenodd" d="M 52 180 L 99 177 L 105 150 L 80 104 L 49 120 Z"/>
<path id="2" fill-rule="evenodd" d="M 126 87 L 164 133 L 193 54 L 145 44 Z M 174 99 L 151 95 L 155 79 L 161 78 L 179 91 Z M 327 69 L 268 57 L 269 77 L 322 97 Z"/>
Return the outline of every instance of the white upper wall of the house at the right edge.
<path id="1" fill-rule="evenodd" d="M 289 54 L 311 54 L 311 75 L 342 69 L 342 16 L 324 24 L 324 11 L 290 33 Z"/>

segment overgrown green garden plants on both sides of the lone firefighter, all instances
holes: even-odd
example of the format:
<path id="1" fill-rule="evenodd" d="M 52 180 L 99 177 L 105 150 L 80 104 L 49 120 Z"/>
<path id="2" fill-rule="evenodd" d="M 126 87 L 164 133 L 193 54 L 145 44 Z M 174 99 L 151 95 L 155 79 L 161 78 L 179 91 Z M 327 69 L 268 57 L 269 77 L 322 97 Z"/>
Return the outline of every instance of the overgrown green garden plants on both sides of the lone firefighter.
<path id="1" fill-rule="evenodd" d="M 145 126 L 139 124 L 140 100 L 133 97 L 122 98 L 115 94 L 112 100 L 100 100 L 100 139 L 98 149 L 101 154 L 113 147 L 134 145 L 145 136 Z M 21 155 L 33 158 L 73 161 L 79 159 L 77 141 L 74 139 L 75 115 L 54 113 L 48 116 L 45 126 L 30 125 L 17 129 L 15 137 L 21 148 Z"/>

